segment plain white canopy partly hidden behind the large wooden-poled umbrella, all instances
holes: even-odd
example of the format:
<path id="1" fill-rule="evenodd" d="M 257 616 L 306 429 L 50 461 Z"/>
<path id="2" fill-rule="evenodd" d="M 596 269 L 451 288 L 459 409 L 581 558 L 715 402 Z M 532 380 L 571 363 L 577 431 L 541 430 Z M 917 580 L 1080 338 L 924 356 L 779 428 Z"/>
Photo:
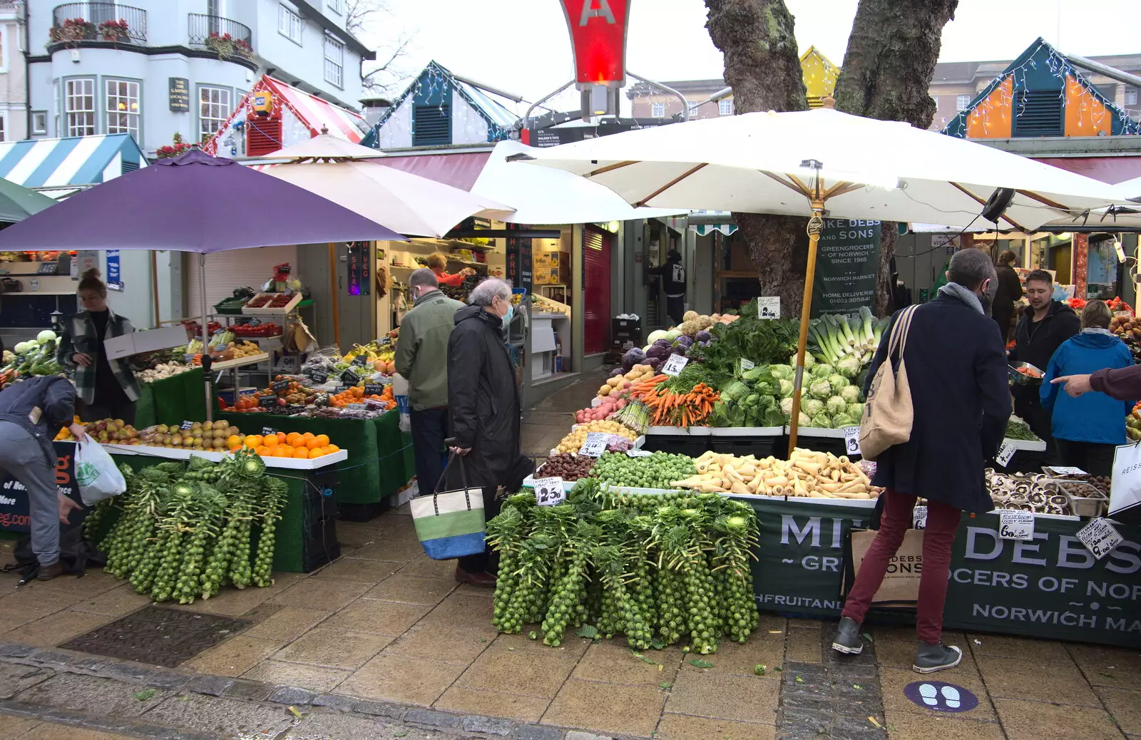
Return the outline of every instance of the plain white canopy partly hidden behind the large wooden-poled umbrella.
<path id="1" fill-rule="evenodd" d="M 687 213 L 687 209 L 634 208 L 614 190 L 570 172 L 551 168 L 519 168 L 508 157 L 537 149 L 518 141 L 500 141 L 487 158 L 471 192 L 515 205 L 500 220 L 512 223 L 592 223 L 629 221 Z"/>

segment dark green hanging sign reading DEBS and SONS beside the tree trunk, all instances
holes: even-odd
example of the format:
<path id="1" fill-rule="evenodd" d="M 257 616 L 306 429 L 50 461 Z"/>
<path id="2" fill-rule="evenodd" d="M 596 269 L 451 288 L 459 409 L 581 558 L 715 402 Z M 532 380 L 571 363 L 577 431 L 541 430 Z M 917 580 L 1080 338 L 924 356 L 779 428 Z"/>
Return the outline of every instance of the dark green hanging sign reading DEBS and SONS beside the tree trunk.
<path id="1" fill-rule="evenodd" d="M 812 317 L 855 314 L 875 301 L 880 221 L 825 219 L 817 245 Z"/>

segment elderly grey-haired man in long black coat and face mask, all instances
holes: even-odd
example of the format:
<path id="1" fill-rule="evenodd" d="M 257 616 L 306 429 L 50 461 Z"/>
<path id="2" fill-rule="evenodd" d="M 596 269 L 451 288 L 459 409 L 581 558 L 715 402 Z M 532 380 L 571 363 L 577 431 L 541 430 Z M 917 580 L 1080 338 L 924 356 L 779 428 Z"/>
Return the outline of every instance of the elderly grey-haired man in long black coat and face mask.
<path id="1" fill-rule="evenodd" d="M 519 389 L 503 341 L 511 322 L 511 286 L 488 278 L 471 291 L 455 312 L 447 344 L 447 398 L 452 413 L 452 452 L 461 460 L 448 467 L 450 488 L 483 488 L 485 514 L 496 513 L 495 491 L 516 477 L 519 455 Z M 464 480 L 466 479 L 466 480 Z M 460 558 L 455 578 L 494 587 L 487 551 Z"/>

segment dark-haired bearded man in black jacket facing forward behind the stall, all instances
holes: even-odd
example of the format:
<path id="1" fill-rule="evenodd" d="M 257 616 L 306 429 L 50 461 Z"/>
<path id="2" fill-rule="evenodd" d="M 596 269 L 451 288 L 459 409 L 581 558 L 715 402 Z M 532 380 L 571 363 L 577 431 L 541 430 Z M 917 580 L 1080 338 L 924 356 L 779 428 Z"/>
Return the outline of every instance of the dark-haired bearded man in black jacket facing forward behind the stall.
<path id="1" fill-rule="evenodd" d="M 1043 373 L 1050 358 L 1061 343 L 1082 331 L 1082 322 L 1069 306 L 1053 300 L 1054 283 L 1050 273 L 1034 270 L 1026 276 L 1026 300 L 1029 306 L 1022 311 L 1014 327 L 1014 349 L 1010 351 L 1011 363 L 1029 363 Z M 1027 383 L 1014 387 L 1014 413 L 1022 417 L 1030 430 L 1045 440 L 1047 455 L 1055 456 L 1051 433 L 1050 412 L 1042 407 L 1038 397 L 1041 385 Z"/>

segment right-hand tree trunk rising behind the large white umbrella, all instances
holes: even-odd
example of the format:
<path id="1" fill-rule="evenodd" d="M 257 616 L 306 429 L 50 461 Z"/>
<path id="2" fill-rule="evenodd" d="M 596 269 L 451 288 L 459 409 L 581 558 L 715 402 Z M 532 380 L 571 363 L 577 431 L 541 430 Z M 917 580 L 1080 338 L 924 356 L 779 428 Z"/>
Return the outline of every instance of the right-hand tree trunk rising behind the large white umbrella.
<path id="1" fill-rule="evenodd" d="M 925 129 L 936 105 L 929 92 L 942 44 L 942 27 L 958 0 L 860 0 L 836 80 L 836 109 Z M 898 231 L 883 223 L 875 312 L 888 310 L 893 284 L 889 266 Z"/>

